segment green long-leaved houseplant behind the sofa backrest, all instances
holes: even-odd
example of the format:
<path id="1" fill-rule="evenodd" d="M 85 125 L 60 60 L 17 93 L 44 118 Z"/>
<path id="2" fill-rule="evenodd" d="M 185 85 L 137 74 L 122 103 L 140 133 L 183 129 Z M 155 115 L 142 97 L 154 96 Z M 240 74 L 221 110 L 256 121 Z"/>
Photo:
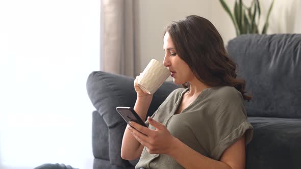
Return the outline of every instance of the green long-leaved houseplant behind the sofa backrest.
<path id="1" fill-rule="evenodd" d="M 219 0 L 223 9 L 230 16 L 236 30 L 236 35 L 239 36 L 241 34 L 259 34 L 258 23 L 260 20 L 261 9 L 259 0 L 253 0 L 250 7 L 246 7 L 242 0 L 235 0 L 234 11 L 231 12 L 229 6 L 224 2 L 224 0 Z M 271 10 L 273 8 L 274 0 L 272 1 L 267 16 L 265 20 L 265 24 L 262 28 L 261 34 L 266 34 L 266 30 L 268 28 L 268 18 L 270 16 Z"/>

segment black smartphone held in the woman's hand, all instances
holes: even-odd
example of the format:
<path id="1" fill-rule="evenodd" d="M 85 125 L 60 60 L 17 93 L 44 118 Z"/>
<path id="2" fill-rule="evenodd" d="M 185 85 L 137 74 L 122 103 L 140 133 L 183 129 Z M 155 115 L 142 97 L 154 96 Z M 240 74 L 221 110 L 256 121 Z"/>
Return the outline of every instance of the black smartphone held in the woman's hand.
<path id="1" fill-rule="evenodd" d="M 129 124 L 130 121 L 136 122 L 144 127 L 146 124 L 141 120 L 139 115 L 136 113 L 132 107 L 116 107 L 119 115 Z M 130 124 L 129 124 L 130 125 Z"/>

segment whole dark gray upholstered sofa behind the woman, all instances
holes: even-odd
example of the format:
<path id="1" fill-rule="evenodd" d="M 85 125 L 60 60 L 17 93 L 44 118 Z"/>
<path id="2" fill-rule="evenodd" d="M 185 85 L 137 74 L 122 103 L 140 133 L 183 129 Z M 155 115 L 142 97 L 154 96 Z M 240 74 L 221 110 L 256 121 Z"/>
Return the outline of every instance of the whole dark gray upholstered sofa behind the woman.
<path id="1" fill-rule="evenodd" d="M 301 168 L 301 34 L 242 35 L 229 41 L 227 50 L 238 64 L 246 90 L 245 102 L 253 140 L 246 147 L 246 168 Z M 134 168 L 137 160 L 120 157 L 126 122 L 116 106 L 134 106 L 134 78 L 92 72 L 87 92 L 92 113 L 94 169 Z M 168 94 L 179 88 L 164 82 L 155 93 L 147 115 L 155 112 Z"/>

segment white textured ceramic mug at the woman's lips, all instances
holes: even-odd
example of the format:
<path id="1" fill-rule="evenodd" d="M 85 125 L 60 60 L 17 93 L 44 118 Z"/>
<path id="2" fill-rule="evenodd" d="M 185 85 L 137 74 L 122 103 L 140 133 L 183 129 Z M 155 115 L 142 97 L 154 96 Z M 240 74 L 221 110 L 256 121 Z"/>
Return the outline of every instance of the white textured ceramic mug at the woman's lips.
<path id="1" fill-rule="evenodd" d="M 148 94 L 154 94 L 170 76 L 170 71 L 159 61 L 152 59 L 140 74 L 138 86 Z"/>

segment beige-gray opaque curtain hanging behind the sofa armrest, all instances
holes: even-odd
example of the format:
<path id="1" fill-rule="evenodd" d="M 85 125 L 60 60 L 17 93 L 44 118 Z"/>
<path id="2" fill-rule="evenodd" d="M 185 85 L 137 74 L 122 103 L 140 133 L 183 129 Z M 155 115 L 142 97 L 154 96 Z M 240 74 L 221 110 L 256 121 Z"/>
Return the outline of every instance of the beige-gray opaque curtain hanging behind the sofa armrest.
<path id="1" fill-rule="evenodd" d="M 134 76 L 133 0 L 102 0 L 101 70 Z"/>

